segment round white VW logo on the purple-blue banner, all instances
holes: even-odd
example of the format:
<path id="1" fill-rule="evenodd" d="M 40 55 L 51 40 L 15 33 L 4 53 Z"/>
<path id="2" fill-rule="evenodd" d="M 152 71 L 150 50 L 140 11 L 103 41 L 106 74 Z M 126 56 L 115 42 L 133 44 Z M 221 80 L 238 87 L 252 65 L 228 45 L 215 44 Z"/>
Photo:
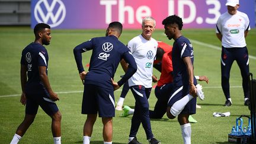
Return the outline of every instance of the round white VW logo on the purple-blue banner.
<path id="1" fill-rule="evenodd" d="M 39 0 L 34 7 L 34 17 L 37 23 L 57 27 L 66 17 L 66 8 L 60 0 Z"/>

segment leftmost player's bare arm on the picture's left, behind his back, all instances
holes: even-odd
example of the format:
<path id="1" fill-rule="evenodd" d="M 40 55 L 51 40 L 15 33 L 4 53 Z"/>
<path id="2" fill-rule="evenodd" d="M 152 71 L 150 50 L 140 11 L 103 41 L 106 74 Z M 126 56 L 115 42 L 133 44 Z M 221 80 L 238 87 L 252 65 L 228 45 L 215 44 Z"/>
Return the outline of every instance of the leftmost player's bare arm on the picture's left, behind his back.
<path id="1" fill-rule="evenodd" d="M 25 97 L 25 84 L 27 83 L 27 66 L 21 65 L 20 76 L 21 76 L 20 78 L 21 78 L 21 89 L 22 89 L 20 102 L 21 104 L 25 105 L 27 102 L 27 99 Z"/>

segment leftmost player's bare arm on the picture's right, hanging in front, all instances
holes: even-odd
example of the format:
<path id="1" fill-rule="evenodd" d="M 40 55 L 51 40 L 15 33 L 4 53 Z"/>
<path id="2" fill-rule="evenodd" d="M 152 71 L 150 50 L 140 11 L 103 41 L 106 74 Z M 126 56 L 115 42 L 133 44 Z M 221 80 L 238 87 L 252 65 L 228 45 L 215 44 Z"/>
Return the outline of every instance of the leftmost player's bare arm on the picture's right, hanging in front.
<path id="1" fill-rule="evenodd" d="M 53 92 L 52 88 L 50 87 L 50 82 L 46 74 L 46 66 L 39 66 L 39 76 L 41 78 L 41 81 L 43 82 L 44 87 L 49 92 L 50 98 L 53 101 L 59 100 L 58 95 L 55 92 Z"/>

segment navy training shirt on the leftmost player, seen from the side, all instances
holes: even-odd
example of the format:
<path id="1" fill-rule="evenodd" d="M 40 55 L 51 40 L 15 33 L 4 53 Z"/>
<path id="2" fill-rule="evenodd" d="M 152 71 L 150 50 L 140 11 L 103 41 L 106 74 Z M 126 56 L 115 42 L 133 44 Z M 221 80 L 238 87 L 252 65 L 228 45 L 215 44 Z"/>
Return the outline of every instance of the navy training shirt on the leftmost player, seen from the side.
<path id="1" fill-rule="evenodd" d="M 44 46 L 39 43 L 30 43 L 23 49 L 21 65 L 27 67 L 28 80 L 25 85 L 25 93 L 40 93 L 46 91 L 39 76 L 38 66 L 48 68 L 48 53 Z M 46 69 L 47 73 L 47 69 Z"/>

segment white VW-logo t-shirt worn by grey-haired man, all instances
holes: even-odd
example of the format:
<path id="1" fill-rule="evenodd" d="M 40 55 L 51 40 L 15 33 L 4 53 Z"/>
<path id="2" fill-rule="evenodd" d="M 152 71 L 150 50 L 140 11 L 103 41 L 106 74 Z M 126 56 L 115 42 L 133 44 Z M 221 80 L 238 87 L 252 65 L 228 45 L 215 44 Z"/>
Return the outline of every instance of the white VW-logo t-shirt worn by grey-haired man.
<path id="1" fill-rule="evenodd" d="M 130 40 L 127 47 L 137 63 L 136 73 L 128 80 L 129 87 L 143 85 L 145 88 L 151 88 L 153 61 L 158 47 L 157 41 L 153 38 L 146 40 L 142 35 L 139 35 Z"/>

